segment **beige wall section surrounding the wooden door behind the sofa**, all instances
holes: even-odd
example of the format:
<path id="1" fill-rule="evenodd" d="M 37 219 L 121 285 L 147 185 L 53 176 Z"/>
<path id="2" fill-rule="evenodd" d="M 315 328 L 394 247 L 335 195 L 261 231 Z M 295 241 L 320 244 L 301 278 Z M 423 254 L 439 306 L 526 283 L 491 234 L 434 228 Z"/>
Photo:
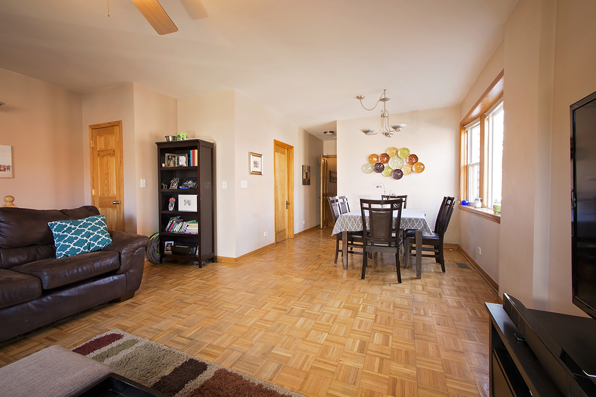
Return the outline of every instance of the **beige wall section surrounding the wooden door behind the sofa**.
<path id="1" fill-rule="evenodd" d="M 122 120 L 125 231 L 136 233 L 136 150 L 133 83 L 83 94 L 85 202 L 91 204 L 89 126 Z"/>

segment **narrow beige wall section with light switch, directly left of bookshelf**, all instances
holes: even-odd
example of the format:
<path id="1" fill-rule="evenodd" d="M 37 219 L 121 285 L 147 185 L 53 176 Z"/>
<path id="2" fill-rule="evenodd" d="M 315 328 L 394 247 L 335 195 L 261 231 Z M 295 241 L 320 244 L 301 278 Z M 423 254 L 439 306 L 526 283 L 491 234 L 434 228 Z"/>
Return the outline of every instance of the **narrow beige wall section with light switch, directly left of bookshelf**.
<path id="1" fill-rule="evenodd" d="M 134 83 L 136 232 L 159 232 L 157 199 L 157 145 L 178 132 L 177 101 Z M 141 187 L 141 179 L 145 186 Z"/>

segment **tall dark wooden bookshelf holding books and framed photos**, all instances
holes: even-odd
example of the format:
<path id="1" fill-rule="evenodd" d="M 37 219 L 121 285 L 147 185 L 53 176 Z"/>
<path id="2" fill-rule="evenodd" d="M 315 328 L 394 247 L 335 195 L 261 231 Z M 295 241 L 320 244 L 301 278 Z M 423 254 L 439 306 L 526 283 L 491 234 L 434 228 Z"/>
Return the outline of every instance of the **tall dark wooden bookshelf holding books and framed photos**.
<path id="1" fill-rule="evenodd" d="M 215 262 L 215 147 L 213 143 L 201 139 L 156 142 L 157 179 L 159 186 L 159 235 L 160 262 L 164 260 L 193 261 L 199 267 L 207 260 Z M 165 167 L 166 154 L 188 155 L 197 151 L 197 164 L 188 167 Z M 185 178 L 197 178 L 197 189 L 169 189 L 173 178 L 179 178 L 179 185 Z M 162 189 L 162 183 L 167 188 Z M 179 211 L 179 195 L 196 195 L 197 211 Z M 173 211 L 168 210 L 170 198 L 176 199 Z M 184 221 L 196 220 L 198 234 L 166 232 L 170 218 L 179 216 Z M 195 255 L 164 254 L 166 242 L 174 245 L 196 246 Z"/>

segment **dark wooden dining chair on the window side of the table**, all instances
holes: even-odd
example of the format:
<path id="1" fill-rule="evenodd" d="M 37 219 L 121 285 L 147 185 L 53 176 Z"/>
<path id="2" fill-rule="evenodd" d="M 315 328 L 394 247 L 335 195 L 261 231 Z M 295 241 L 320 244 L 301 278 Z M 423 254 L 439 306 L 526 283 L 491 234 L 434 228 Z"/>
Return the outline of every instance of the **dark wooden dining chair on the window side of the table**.
<path id="1" fill-rule="evenodd" d="M 455 198 L 446 196 L 439 208 L 437 214 L 437 221 L 434 224 L 433 233 L 422 232 L 422 252 L 432 252 L 432 254 L 422 254 L 425 258 L 434 258 L 434 260 L 441 265 L 441 270 L 445 273 L 445 256 L 443 255 L 443 239 L 445 232 L 449 226 L 451 215 L 455 207 Z M 403 235 L 404 240 L 404 257 L 416 256 L 416 231 L 406 230 Z M 412 252 L 414 249 L 414 252 Z"/>

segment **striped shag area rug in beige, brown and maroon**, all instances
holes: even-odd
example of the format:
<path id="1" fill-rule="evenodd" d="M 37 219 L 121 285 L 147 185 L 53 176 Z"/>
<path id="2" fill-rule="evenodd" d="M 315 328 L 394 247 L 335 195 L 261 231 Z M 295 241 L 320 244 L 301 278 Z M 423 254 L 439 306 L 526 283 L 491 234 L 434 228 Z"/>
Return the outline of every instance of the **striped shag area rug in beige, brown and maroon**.
<path id="1" fill-rule="evenodd" d="M 95 336 L 73 351 L 173 397 L 304 397 L 121 330 Z"/>

